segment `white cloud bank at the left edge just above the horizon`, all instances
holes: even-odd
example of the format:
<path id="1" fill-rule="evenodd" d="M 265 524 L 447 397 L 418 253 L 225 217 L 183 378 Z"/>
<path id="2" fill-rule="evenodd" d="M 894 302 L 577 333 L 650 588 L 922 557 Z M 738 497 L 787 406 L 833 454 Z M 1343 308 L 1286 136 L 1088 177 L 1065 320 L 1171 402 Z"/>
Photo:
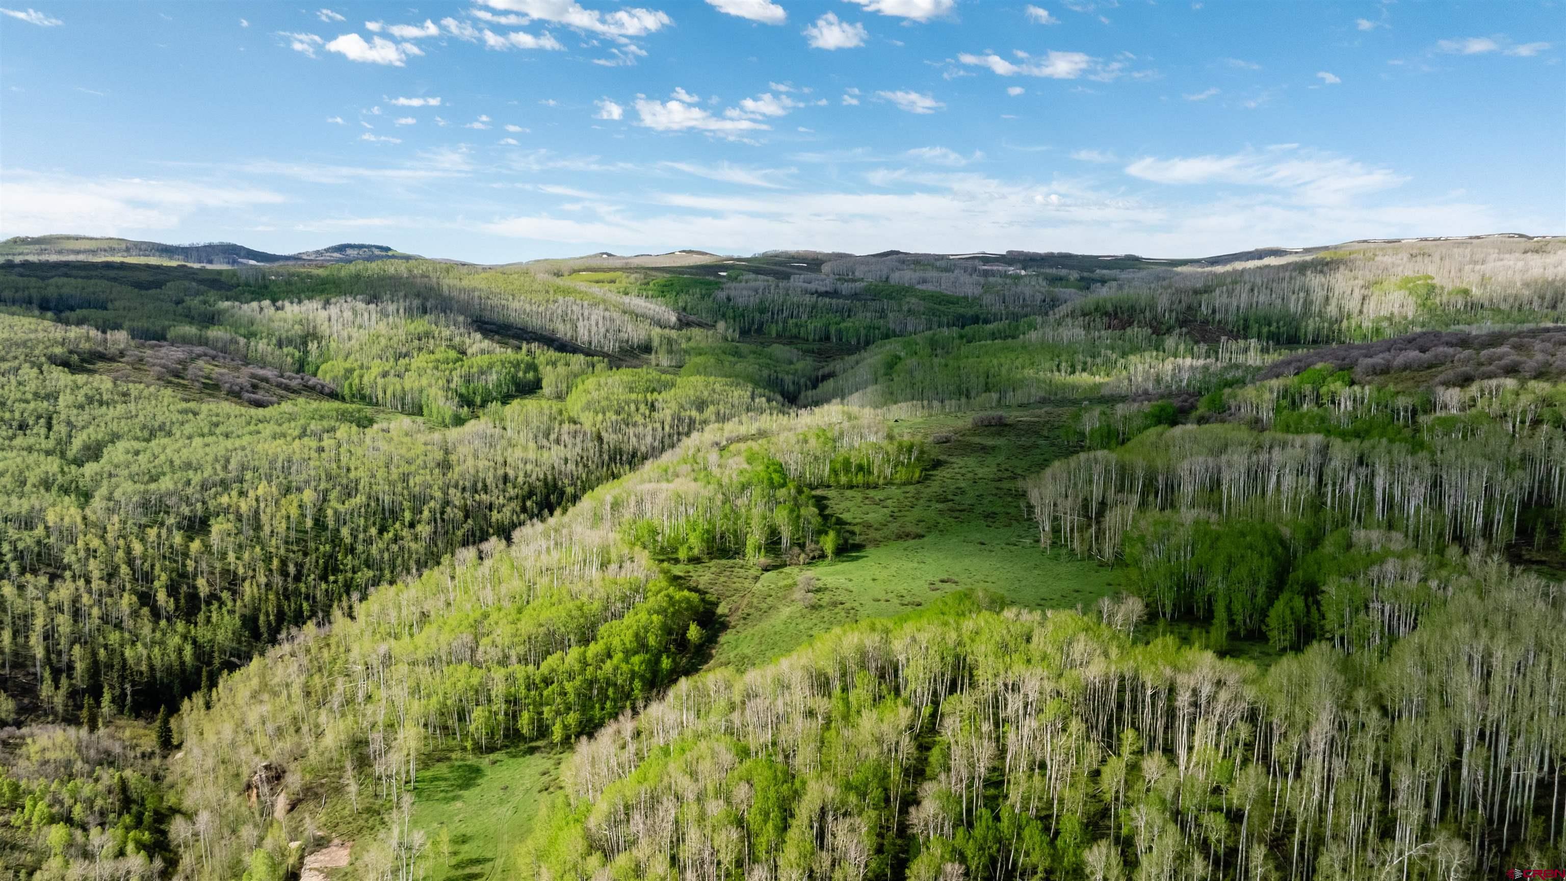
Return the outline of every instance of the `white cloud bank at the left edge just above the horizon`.
<path id="1" fill-rule="evenodd" d="M 119 235 L 138 229 L 174 229 L 202 208 L 233 208 L 283 202 L 257 187 L 158 180 L 143 177 L 77 177 L 8 168 L 0 201 L 0 235 Z"/>

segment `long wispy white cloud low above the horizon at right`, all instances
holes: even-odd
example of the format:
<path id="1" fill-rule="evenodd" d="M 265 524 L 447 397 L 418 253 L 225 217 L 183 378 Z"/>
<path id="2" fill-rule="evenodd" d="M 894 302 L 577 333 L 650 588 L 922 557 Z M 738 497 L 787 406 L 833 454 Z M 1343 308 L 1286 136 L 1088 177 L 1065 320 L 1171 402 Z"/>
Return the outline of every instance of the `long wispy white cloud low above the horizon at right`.
<path id="1" fill-rule="evenodd" d="M 1239 183 L 1289 191 L 1300 202 L 1342 204 L 1353 196 L 1406 182 L 1386 168 L 1326 152 L 1279 144 L 1262 152 L 1179 158 L 1138 158 L 1126 174 L 1154 183 Z"/>

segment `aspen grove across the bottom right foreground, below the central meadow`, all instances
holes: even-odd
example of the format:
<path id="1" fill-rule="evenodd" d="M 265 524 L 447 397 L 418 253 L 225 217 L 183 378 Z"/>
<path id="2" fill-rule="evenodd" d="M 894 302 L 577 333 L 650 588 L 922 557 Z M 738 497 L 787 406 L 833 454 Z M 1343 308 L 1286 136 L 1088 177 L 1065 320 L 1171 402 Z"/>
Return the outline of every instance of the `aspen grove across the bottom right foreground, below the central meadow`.
<path id="1" fill-rule="evenodd" d="M 584 741 L 517 872 L 1436 879 L 1549 859 L 1560 829 L 1516 818 L 1560 773 L 1561 594 L 1470 574 L 1380 660 L 1319 646 L 1267 673 L 1135 643 L 1113 604 L 1112 624 L 969 605 L 841 629 Z M 1496 654 L 1464 665 L 1472 644 Z"/>

